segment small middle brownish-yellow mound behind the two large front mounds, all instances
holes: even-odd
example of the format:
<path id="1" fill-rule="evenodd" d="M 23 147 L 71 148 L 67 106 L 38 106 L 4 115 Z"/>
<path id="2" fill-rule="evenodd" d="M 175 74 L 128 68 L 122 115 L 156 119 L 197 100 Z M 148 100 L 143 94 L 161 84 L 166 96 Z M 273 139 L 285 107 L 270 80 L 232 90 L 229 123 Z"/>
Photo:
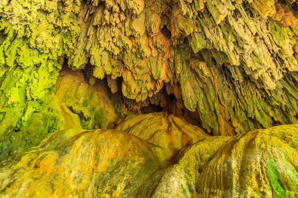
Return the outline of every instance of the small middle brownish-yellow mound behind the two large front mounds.
<path id="1" fill-rule="evenodd" d="M 166 159 L 173 159 L 179 150 L 208 136 L 181 116 L 165 112 L 131 115 L 118 121 L 116 129 L 133 134 L 167 150 Z"/>

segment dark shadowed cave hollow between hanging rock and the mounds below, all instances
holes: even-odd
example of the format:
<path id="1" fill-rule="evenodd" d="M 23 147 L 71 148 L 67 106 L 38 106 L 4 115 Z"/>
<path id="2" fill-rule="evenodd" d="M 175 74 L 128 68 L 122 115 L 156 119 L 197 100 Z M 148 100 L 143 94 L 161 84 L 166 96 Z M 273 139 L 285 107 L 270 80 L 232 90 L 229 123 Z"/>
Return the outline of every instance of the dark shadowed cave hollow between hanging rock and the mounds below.
<path id="1" fill-rule="evenodd" d="M 66 71 L 67 72 L 74 71 L 71 68 L 69 68 L 69 66 L 67 65 L 67 62 L 68 62 L 68 59 L 64 58 L 64 63 L 62 65 L 60 74 L 63 74 Z M 191 123 L 192 125 L 199 126 L 203 129 L 202 120 L 199 112 L 197 110 L 196 111 L 188 110 L 185 107 L 184 102 L 181 98 L 177 99 L 174 94 L 167 93 L 165 86 L 152 97 L 148 97 L 144 101 L 137 102 L 135 99 L 128 99 L 125 96 L 123 96 L 122 89 L 121 89 L 122 83 L 123 83 L 122 76 L 119 76 L 115 79 L 115 82 L 117 84 L 117 92 L 112 93 L 111 87 L 109 87 L 109 83 L 107 80 L 108 75 L 105 75 L 103 79 L 97 79 L 92 75 L 93 69 L 94 69 L 94 66 L 92 66 L 90 63 L 87 63 L 84 69 L 79 69 L 74 72 L 78 74 L 81 73 L 81 75 L 83 76 L 83 79 L 81 80 L 84 83 L 87 83 L 89 86 L 96 88 L 97 86 L 100 85 L 105 88 L 107 99 L 110 100 L 111 104 L 115 108 L 118 119 L 124 118 L 128 115 L 133 115 L 133 114 L 167 112 L 175 116 L 180 116 L 186 121 L 188 121 L 189 123 Z M 60 77 L 58 77 L 58 79 L 59 78 Z M 106 101 L 103 101 L 103 102 L 106 102 Z M 69 107 L 69 110 L 72 113 L 75 113 L 75 110 L 73 108 L 75 107 Z M 82 112 L 79 112 L 77 114 L 81 122 L 86 122 L 88 120 L 88 118 L 84 117 L 84 114 Z M 113 122 L 112 124 L 115 125 L 115 123 L 116 121 Z M 98 124 L 94 125 L 94 127 L 97 128 Z M 213 135 L 210 132 L 209 134 Z"/>

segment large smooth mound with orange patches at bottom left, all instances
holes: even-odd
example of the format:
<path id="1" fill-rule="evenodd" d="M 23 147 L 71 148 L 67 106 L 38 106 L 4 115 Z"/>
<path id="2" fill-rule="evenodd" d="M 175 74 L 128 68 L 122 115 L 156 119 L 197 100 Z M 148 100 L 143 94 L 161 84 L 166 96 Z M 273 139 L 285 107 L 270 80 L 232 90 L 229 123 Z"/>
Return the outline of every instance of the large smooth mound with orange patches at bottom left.
<path id="1" fill-rule="evenodd" d="M 116 130 L 58 131 L 0 168 L 0 195 L 145 198 L 166 165 L 160 151 Z"/>

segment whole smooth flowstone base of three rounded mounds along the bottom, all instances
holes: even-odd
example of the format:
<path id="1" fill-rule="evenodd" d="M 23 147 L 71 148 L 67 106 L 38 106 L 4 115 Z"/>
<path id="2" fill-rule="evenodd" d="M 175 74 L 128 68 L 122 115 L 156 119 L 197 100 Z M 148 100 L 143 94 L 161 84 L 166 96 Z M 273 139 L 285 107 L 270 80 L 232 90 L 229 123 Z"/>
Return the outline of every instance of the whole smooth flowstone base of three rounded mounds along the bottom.
<path id="1" fill-rule="evenodd" d="M 0 166 L 1 197 L 298 196 L 298 125 L 214 137 L 182 118 L 153 113 L 128 117 L 117 128 L 129 133 L 57 131 L 17 153 Z M 169 160 L 171 149 L 179 153 Z"/>

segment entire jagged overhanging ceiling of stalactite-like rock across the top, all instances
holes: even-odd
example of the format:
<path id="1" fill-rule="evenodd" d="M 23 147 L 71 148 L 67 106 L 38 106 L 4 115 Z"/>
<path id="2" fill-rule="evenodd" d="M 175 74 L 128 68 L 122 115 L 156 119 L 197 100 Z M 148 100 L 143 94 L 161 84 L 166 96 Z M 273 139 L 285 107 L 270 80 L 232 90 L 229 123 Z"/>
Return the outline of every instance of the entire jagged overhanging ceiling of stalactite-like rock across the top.
<path id="1" fill-rule="evenodd" d="M 0 135 L 47 104 L 64 59 L 131 109 L 183 99 L 214 135 L 298 123 L 297 11 L 295 0 L 1 1 Z M 74 111 L 92 127 L 90 110 Z"/>

